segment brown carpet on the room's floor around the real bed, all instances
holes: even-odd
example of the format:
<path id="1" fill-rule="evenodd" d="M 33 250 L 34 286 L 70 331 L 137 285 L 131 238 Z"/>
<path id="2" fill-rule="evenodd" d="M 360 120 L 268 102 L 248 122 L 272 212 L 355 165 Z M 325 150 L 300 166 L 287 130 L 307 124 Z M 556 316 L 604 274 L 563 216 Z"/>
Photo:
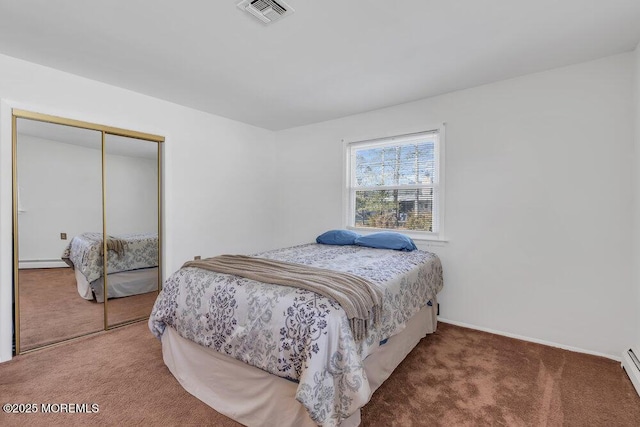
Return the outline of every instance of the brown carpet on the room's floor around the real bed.
<path id="1" fill-rule="evenodd" d="M 5 414 L 0 425 L 237 426 L 189 395 L 145 323 L 0 364 L 2 403 L 97 403 L 96 414 Z M 440 324 L 362 410 L 363 426 L 638 426 L 620 364 Z"/>

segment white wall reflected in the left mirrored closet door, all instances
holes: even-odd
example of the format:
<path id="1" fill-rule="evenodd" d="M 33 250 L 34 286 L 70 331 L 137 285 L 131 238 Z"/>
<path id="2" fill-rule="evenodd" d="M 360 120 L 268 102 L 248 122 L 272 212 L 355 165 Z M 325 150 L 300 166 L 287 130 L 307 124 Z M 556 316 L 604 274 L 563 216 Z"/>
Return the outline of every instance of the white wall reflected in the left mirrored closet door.
<path id="1" fill-rule="evenodd" d="M 60 233 L 71 239 L 84 231 L 102 231 L 99 132 L 96 137 L 98 149 L 18 135 L 21 268 L 34 261 L 61 261 L 69 240 L 61 240 Z"/>

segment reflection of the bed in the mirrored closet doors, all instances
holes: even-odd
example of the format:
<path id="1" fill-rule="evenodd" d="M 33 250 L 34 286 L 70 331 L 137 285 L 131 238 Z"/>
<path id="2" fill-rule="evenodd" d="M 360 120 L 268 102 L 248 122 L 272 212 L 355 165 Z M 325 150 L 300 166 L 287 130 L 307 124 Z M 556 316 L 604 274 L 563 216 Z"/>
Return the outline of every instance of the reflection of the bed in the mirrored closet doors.
<path id="1" fill-rule="evenodd" d="M 78 293 L 104 302 L 102 233 L 82 233 L 65 248 L 62 259 L 74 269 Z M 158 289 L 158 234 L 137 233 L 107 238 L 107 298 Z"/>

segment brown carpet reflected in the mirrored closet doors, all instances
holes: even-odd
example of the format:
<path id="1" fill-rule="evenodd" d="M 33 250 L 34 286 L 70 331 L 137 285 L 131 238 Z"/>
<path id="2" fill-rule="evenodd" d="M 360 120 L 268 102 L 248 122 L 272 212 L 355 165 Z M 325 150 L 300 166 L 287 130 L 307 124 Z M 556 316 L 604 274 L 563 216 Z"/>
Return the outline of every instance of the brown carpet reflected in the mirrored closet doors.
<path id="1" fill-rule="evenodd" d="M 102 304 L 78 294 L 71 268 L 20 270 L 21 351 L 104 329 Z M 110 299 L 109 324 L 148 317 L 156 293 Z"/>

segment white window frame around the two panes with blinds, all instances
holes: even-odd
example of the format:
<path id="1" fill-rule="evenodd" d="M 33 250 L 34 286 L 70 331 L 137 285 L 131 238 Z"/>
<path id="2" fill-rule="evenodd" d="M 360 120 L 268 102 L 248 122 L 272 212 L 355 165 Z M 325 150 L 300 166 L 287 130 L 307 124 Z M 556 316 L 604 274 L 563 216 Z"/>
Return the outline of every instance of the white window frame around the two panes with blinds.
<path id="1" fill-rule="evenodd" d="M 355 180 L 355 149 L 358 148 L 374 148 L 382 146 L 394 146 L 402 144 L 403 142 L 417 138 L 425 134 L 436 134 L 434 142 L 434 160 L 435 160 L 435 176 L 434 182 L 431 184 L 411 184 L 411 185 L 397 185 L 397 186 L 378 186 L 378 187 L 356 187 L 354 185 Z M 344 144 L 344 203 L 343 203 L 343 228 L 354 230 L 362 234 L 369 234 L 377 231 L 397 231 L 411 237 L 414 240 L 426 240 L 426 241 L 438 241 L 446 242 L 444 238 L 444 200 L 445 200 L 445 173 L 444 173 L 444 153 L 445 153 L 445 123 L 441 123 L 438 126 L 430 127 L 428 130 L 422 130 L 418 132 L 397 134 L 386 137 L 358 139 L 358 140 L 345 140 Z M 395 144 L 394 144 L 395 142 Z M 372 190 L 372 189 L 414 189 L 414 188 L 433 188 L 433 231 L 419 231 L 419 230 L 399 230 L 393 228 L 376 228 L 376 227 L 362 227 L 355 224 L 355 194 L 356 190 Z"/>

